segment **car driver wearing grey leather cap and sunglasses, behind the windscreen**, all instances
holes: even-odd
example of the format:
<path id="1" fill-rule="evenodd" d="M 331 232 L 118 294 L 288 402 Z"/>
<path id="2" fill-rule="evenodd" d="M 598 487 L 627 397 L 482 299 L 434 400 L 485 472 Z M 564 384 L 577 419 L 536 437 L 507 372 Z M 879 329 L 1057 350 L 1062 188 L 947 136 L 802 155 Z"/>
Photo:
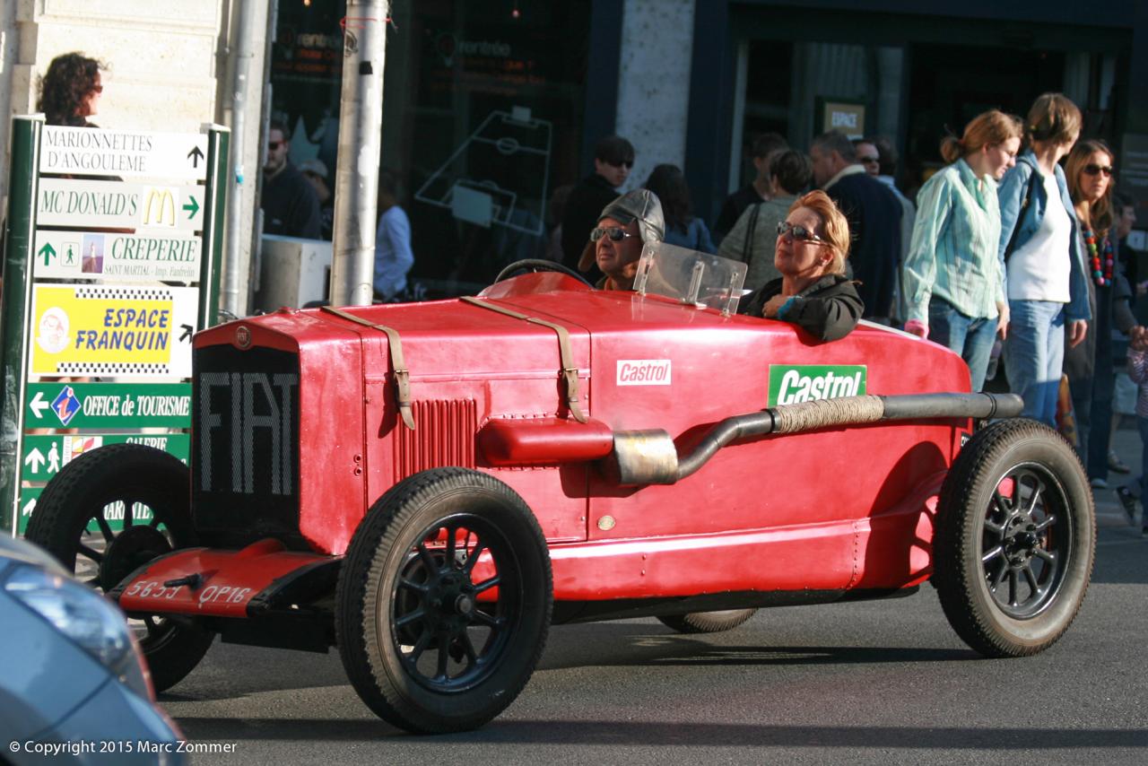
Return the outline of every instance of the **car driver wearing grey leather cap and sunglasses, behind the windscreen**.
<path id="1" fill-rule="evenodd" d="M 591 263 L 597 264 L 604 274 L 597 284 L 599 289 L 634 289 L 642 246 L 660 242 L 665 235 L 666 219 L 658 195 L 636 188 L 603 209 L 577 266 L 585 271 Z"/>

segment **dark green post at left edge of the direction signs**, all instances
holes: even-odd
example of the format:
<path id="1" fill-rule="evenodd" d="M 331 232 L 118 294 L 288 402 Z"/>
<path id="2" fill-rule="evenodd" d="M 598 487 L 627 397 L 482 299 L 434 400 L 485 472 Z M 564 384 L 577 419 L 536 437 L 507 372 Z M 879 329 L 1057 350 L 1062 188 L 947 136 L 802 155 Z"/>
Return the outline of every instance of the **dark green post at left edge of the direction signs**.
<path id="1" fill-rule="evenodd" d="M 5 231 L 3 327 L 0 331 L 0 529 L 13 533 L 20 513 L 20 455 L 24 432 L 25 331 L 36 242 L 37 170 L 44 115 L 13 118 L 8 225 Z"/>

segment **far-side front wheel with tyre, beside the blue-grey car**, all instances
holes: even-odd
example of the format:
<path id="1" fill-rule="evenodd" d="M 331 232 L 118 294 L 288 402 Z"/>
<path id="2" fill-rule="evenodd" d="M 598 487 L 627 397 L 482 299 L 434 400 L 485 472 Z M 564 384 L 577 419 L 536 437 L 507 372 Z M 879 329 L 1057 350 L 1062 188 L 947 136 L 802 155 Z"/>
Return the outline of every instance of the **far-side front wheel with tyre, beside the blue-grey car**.
<path id="1" fill-rule="evenodd" d="M 110 521 L 121 513 L 116 531 Z M 187 466 L 142 444 L 108 444 L 80 455 L 45 487 L 25 536 L 107 593 L 157 556 L 195 544 Z M 156 691 L 191 673 L 215 637 L 189 619 L 131 617 Z"/>

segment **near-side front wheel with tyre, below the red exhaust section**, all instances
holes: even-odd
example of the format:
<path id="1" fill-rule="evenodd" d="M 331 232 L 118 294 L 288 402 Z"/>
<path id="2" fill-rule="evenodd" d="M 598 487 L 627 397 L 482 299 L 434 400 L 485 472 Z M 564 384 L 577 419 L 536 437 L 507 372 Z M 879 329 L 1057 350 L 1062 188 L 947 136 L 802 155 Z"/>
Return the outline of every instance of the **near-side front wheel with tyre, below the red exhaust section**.
<path id="1" fill-rule="evenodd" d="M 545 647 L 550 558 L 526 503 L 466 469 L 403 480 L 359 524 L 340 571 L 343 666 L 382 719 L 419 734 L 501 713 Z"/>

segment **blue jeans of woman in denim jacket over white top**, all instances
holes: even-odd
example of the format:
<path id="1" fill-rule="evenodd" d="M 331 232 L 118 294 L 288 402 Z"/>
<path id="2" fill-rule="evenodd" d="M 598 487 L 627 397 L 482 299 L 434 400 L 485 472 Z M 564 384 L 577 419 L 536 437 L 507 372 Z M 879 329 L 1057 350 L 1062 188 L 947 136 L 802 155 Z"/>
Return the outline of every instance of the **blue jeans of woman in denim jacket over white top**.
<path id="1" fill-rule="evenodd" d="M 1004 369 L 1008 387 L 1024 397 L 1026 418 L 1056 427 L 1056 397 L 1064 367 L 1064 304 L 1009 301 Z"/>

